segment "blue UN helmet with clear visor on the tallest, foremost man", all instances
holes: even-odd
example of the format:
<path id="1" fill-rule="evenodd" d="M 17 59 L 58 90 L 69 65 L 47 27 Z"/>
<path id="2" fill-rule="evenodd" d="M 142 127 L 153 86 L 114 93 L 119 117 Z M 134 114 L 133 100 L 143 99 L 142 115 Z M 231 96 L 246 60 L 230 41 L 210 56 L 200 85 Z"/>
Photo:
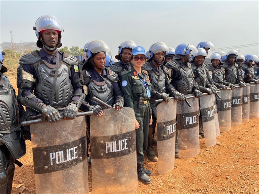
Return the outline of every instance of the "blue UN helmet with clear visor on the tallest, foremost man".
<path id="1" fill-rule="evenodd" d="M 35 34 L 38 38 L 37 46 L 39 48 L 42 48 L 44 46 L 48 51 L 54 51 L 56 48 L 60 48 L 62 46 L 61 43 L 61 32 L 64 32 L 64 29 L 61 26 L 61 23 L 59 19 L 57 19 L 55 16 L 52 15 L 44 15 L 39 17 L 36 22 L 35 26 L 33 27 L 33 30 L 35 31 Z M 41 31 L 45 30 L 56 30 L 59 31 L 59 40 L 57 42 L 57 45 L 54 48 L 48 47 L 45 45 L 44 41 L 41 40 Z"/>

